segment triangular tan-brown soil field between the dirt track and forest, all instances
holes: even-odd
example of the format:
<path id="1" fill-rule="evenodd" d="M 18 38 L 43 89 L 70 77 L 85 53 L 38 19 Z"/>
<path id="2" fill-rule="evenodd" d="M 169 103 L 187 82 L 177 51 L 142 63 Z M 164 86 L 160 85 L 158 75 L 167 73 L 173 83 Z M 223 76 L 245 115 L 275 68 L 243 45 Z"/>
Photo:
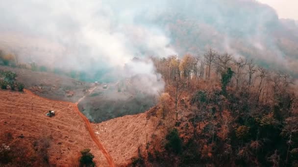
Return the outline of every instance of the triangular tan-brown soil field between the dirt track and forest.
<path id="1" fill-rule="evenodd" d="M 154 110 L 155 107 L 150 110 Z M 99 124 L 92 124 L 100 142 L 110 153 L 116 166 L 127 166 L 131 158 L 138 156 L 138 147 L 145 152 L 147 142 L 156 130 L 157 117 L 148 113 L 127 115 Z M 146 155 L 143 155 L 146 156 Z"/>

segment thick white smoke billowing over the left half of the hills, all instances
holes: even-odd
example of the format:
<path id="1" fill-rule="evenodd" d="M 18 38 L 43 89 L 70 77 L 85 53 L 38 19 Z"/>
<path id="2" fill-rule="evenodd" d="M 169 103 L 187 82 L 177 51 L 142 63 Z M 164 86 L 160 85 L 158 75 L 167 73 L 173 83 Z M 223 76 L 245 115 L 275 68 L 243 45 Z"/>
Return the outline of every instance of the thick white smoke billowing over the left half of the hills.
<path id="1" fill-rule="evenodd" d="M 134 57 L 176 54 L 162 29 L 135 21 L 147 5 L 118 0 L 9 0 L 0 2 L 2 43 L 16 38 L 12 48 L 22 62 L 84 70 L 110 69 L 109 77 L 139 77 L 135 83 L 150 94 L 164 83 L 153 63 L 132 62 Z M 153 7 L 153 6 L 152 6 Z M 153 11 L 147 13 L 151 17 Z M 15 34 L 18 32 L 20 36 Z M 6 40 L 6 41 L 5 41 Z M 21 41 L 22 40 L 22 41 Z M 21 46 L 21 47 L 20 47 Z M 50 54 L 49 54 L 50 52 Z M 126 64 L 126 70 L 124 65 Z M 129 66 L 130 69 L 127 69 Z M 136 80 L 137 81 L 137 80 Z"/>

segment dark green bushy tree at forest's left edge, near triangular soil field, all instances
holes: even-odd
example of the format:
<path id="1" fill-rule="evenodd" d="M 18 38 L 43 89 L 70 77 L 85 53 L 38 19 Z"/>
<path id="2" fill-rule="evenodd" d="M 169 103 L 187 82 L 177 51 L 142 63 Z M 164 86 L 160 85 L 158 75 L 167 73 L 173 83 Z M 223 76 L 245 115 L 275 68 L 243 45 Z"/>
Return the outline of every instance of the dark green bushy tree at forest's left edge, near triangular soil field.
<path id="1" fill-rule="evenodd" d="M 167 150 L 172 150 L 174 153 L 178 154 L 182 150 L 182 140 L 179 137 L 178 130 L 174 128 L 166 136 L 168 143 L 166 144 Z"/>

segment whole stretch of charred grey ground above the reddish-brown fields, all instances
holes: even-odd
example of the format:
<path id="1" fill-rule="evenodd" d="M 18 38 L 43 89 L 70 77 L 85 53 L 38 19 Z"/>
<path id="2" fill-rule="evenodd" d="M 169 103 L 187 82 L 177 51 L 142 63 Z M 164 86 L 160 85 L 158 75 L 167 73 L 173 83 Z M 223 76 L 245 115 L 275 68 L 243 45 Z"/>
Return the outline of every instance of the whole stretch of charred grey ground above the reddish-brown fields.
<path id="1" fill-rule="evenodd" d="M 107 88 L 103 88 L 105 84 L 82 82 L 51 72 L 1 65 L 0 70 L 17 73 L 17 81 L 24 83 L 25 88 L 41 97 L 76 103 L 85 96 L 78 103 L 78 108 L 90 121 L 96 123 L 143 113 L 156 104 L 153 95 L 139 91 L 140 88 L 136 90 L 135 85 L 129 84 L 135 81 L 109 83 L 106 84 Z"/>

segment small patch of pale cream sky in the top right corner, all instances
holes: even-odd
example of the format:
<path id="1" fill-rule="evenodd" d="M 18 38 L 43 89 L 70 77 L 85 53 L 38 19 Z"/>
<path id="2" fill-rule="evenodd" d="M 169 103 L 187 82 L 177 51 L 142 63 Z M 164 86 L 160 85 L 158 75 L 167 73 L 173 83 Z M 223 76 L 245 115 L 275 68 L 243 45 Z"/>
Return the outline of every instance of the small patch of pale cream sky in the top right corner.
<path id="1" fill-rule="evenodd" d="M 298 0 L 258 0 L 272 6 L 279 18 L 298 20 Z"/>

